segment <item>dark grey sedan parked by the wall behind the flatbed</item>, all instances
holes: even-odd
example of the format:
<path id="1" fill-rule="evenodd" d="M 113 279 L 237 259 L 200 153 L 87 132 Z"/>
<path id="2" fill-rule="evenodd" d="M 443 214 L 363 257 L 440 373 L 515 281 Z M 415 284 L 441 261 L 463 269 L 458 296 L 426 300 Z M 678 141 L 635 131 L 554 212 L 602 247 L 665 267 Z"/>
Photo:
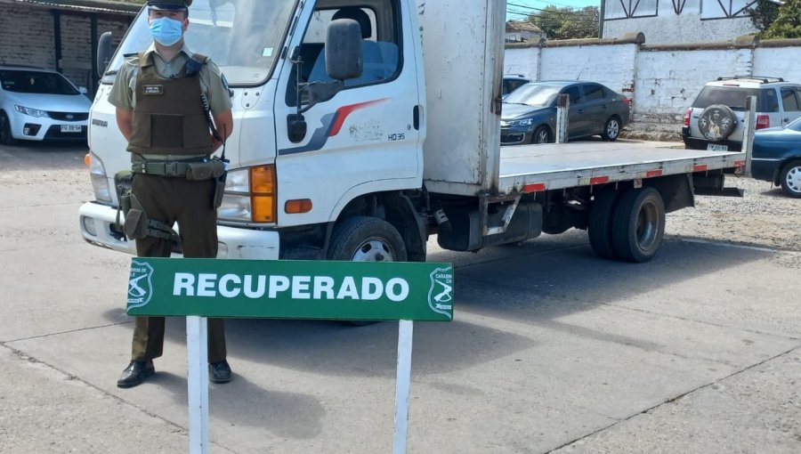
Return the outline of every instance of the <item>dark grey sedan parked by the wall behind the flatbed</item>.
<path id="1" fill-rule="evenodd" d="M 629 100 L 595 82 L 530 82 L 504 99 L 501 111 L 501 145 L 554 142 L 556 100 L 570 95 L 568 138 L 600 134 L 617 140 L 628 124 Z"/>

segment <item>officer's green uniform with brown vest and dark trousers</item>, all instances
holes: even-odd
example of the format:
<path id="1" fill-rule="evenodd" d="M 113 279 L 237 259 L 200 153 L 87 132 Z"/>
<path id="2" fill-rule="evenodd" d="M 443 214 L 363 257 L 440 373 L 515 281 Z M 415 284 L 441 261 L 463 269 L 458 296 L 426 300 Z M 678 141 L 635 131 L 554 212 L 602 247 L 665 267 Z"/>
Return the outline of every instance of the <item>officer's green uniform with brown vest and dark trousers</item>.
<path id="1" fill-rule="evenodd" d="M 211 61 L 187 75 L 192 55 L 184 45 L 172 61 L 165 61 L 151 45 L 141 56 L 126 58 L 117 73 L 109 102 L 134 111 L 134 131 L 127 148 L 133 162 L 191 161 L 207 158 L 213 151 L 200 94 L 206 95 L 212 114 L 231 109 L 231 99 L 219 69 Z M 215 184 L 213 178 L 188 180 L 180 175 L 135 173 L 132 191 L 148 218 L 166 225 L 178 223 L 184 257 L 214 258 Z M 136 239 L 137 255 L 168 257 L 171 252 L 170 239 Z M 136 317 L 132 361 L 161 356 L 164 328 L 163 317 Z M 208 361 L 224 361 L 225 357 L 223 320 L 209 319 Z"/>

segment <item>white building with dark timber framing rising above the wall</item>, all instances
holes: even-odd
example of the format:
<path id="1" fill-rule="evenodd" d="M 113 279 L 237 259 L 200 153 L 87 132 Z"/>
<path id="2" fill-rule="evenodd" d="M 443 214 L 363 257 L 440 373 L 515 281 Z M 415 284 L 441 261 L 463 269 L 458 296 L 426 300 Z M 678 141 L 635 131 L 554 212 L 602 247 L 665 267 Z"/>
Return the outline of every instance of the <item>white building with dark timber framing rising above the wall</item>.
<path id="1" fill-rule="evenodd" d="M 650 3 L 650 5 L 649 5 Z M 636 14 L 649 14 L 652 17 L 631 17 L 619 20 L 604 20 L 603 37 L 620 37 L 627 32 L 642 31 L 648 35 L 648 44 L 709 43 L 726 41 L 737 36 L 756 33 L 751 20 L 739 12 L 746 7 L 748 0 L 734 0 L 718 3 L 717 0 L 686 0 L 683 7 L 676 9 L 676 2 L 643 0 L 637 4 Z M 619 2 L 607 2 L 606 17 L 621 17 Z M 651 6 L 651 8 L 647 8 Z M 611 9 L 617 9 L 612 12 Z"/>

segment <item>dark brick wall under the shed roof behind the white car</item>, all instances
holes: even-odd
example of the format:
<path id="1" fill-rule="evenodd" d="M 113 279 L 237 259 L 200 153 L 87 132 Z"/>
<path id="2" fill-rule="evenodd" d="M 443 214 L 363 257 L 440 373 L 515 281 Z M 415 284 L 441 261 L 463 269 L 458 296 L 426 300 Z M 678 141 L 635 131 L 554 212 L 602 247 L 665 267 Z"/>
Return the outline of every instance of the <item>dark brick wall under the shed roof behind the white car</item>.
<path id="1" fill-rule="evenodd" d="M 0 14 L 0 62 L 56 69 L 55 27 L 53 12 L 2 4 Z M 112 31 L 118 43 L 127 29 L 125 16 L 100 16 L 97 20 L 97 38 Z M 61 73 L 74 84 L 86 86 L 92 92 L 92 28 L 89 14 L 60 14 Z"/>

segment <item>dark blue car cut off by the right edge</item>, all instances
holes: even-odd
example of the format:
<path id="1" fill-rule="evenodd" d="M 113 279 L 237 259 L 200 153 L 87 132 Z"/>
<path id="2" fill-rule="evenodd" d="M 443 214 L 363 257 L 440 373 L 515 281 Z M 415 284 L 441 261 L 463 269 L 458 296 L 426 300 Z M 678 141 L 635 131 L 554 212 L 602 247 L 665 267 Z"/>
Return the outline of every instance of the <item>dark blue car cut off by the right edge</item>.
<path id="1" fill-rule="evenodd" d="M 756 180 L 781 185 L 789 197 L 801 198 L 801 118 L 754 134 L 751 174 Z"/>

